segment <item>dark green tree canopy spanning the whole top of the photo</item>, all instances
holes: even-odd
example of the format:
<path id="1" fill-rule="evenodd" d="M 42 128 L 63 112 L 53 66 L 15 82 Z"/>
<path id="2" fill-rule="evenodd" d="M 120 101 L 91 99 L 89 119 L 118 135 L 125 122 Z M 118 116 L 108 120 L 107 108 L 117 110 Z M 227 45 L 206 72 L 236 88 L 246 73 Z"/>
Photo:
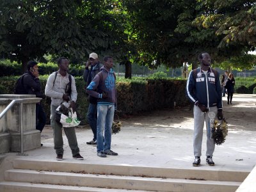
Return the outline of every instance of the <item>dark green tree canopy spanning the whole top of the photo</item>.
<path id="1" fill-rule="evenodd" d="M 44 54 L 82 62 L 93 51 L 175 68 L 207 51 L 221 63 L 255 50 L 255 19 L 255 1 L 245 0 L 0 1 L 0 56 L 25 67 Z"/>

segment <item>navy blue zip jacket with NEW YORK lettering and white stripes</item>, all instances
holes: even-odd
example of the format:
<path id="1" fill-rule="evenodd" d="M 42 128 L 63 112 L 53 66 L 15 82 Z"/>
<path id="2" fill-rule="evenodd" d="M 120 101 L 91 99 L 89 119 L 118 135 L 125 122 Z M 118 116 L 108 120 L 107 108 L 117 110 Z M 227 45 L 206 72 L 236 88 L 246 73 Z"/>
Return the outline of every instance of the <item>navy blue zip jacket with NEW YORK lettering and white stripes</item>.
<path id="1" fill-rule="evenodd" d="M 220 74 L 216 71 L 215 74 L 216 77 L 211 67 L 206 75 L 200 67 L 196 68 L 196 75 L 191 70 L 186 86 L 186 96 L 191 102 L 198 100 L 207 108 L 217 106 L 222 109 Z"/>

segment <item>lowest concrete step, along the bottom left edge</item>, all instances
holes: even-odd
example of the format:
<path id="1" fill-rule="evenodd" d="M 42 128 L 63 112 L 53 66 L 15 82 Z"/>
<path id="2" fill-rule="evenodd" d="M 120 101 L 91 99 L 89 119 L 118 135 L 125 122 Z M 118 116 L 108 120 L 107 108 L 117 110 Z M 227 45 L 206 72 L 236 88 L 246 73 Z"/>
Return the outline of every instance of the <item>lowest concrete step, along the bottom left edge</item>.
<path id="1" fill-rule="evenodd" d="M 131 192 L 127 189 L 106 189 L 106 188 L 88 188 L 81 186 L 61 186 L 61 185 L 52 185 L 52 184 L 31 184 L 29 182 L 0 182 L 0 191 L 1 192 Z M 136 192 L 143 192 L 137 191 Z"/>

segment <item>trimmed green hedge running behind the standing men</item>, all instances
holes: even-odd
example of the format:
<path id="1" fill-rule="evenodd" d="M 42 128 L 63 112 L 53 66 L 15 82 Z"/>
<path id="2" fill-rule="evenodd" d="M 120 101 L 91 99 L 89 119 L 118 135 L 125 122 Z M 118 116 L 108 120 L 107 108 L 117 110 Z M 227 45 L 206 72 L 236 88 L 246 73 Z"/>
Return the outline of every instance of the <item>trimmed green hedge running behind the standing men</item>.
<path id="1" fill-rule="evenodd" d="M 2 94 L 12 94 L 18 76 L 0 77 Z M 40 76 L 42 90 L 45 89 L 48 76 Z M 173 108 L 174 101 L 177 106 L 186 106 L 189 101 L 185 96 L 186 80 L 178 79 L 124 79 L 117 77 L 117 109 L 124 114 L 152 111 L 154 109 Z M 86 124 L 88 109 L 88 95 L 84 91 L 82 77 L 76 77 L 77 86 L 77 112 L 81 118 L 81 125 Z M 51 99 L 42 100 L 49 124 Z"/>

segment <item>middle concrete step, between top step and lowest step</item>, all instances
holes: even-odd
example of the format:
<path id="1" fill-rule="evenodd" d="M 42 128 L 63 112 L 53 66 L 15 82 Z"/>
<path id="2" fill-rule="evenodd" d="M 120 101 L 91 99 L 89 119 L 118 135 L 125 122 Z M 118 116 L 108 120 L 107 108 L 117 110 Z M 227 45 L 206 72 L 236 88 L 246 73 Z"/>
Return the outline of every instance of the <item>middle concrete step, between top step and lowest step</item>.
<path id="1" fill-rule="evenodd" d="M 83 186 L 91 188 L 131 189 L 144 191 L 236 191 L 241 182 L 189 180 L 156 177 L 132 177 L 88 173 L 8 170 L 4 179 L 14 182 Z"/>

